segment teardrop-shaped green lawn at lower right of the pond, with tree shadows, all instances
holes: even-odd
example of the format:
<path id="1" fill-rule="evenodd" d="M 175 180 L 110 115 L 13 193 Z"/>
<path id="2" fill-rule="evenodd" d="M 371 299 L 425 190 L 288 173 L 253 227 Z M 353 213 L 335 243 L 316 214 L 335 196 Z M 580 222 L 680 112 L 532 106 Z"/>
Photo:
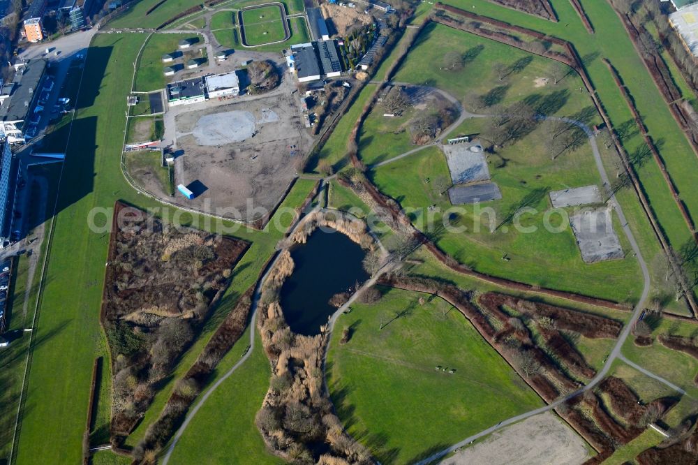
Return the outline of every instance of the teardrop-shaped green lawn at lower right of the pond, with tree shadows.
<path id="1" fill-rule="evenodd" d="M 542 405 L 503 358 L 445 301 L 382 288 L 337 320 L 327 383 L 348 433 L 383 463 L 414 463 Z M 420 306 L 423 296 L 428 302 Z M 396 313 L 407 311 L 394 320 Z M 387 323 L 391 320 L 389 323 Z M 379 330 L 381 322 L 385 325 Z M 343 328 L 352 329 L 339 344 Z M 437 371 L 436 365 L 456 369 Z"/>

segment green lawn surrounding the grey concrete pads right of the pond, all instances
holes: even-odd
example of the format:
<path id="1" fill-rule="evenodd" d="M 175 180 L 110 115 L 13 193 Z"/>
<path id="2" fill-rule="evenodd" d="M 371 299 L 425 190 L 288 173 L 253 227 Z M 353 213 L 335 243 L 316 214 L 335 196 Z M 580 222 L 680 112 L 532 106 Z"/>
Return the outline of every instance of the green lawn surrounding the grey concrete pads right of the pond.
<path id="1" fill-rule="evenodd" d="M 505 147 L 500 152 L 507 160 L 503 168 L 496 168 L 496 156 L 489 157 L 492 180 L 503 198 L 461 205 L 459 219 L 452 223 L 465 226 L 466 230 L 450 231 L 441 227 L 444 214 L 440 212 L 449 212 L 451 205 L 446 193 L 438 194 L 435 184 L 439 177 L 448 178 L 449 172 L 445 156 L 436 147 L 376 168 L 369 176 L 380 191 L 399 201 L 403 209 L 414 211 L 410 214 L 413 223 L 430 233 L 441 249 L 473 270 L 547 288 L 634 302 L 641 290 L 641 280 L 632 254 L 623 260 L 588 265 L 581 260 L 566 218 L 551 216 L 550 224 L 560 226 L 560 231 L 544 227 L 544 217 L 550 208 L 549 191 L 600 185 L 588 144 L 551 162 L 542 142 L 544 131 L 546 127 L 541 126 L 517 144 Z M 521 226 L 535 226 L 535 232 L 512 228 L 510 223 L 491 232 L 534 189 L 540 189 L 544 195 L 531 205 L 537 212 L 521 215 Z M 429 205 L 438 205 L 440 212 L 428 212 Z M 430 215 L 434 218 L 433 226 L 429 226 Z M 567 226 L 563 228 L 563 225 Z M 617 221 L 614 230 L 625 251 L 630 250 Z M 510 260 L 502 260 L 505 254 Z"/>

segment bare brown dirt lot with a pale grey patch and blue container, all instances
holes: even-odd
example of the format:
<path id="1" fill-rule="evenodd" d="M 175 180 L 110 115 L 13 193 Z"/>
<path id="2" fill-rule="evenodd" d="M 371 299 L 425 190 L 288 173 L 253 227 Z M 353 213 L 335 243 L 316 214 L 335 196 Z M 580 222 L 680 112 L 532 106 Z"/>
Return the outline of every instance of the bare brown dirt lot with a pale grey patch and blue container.
<path id="1" fill-rule="evenodd" d="M 175 180 L 197 195 L 176 195 L 175 201 L 254 221 L 281 200 L 312 139 L 290 92 L 232 102 L 174 118 L 177 147 L 184 152 L 175 161 Z"/>

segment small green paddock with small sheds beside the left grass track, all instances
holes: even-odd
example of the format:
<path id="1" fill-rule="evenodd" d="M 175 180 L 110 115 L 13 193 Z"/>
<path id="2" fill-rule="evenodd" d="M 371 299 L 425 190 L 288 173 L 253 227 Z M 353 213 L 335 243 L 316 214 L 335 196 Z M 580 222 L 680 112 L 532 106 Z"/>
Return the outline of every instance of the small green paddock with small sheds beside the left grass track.
<path id="1" fill-rule="evenodd" d="M 186 38 L 198 38 L 197 45 L 203 43 L 203 39 L 195 34 L 153 34 L 150 36 L 138 60 L 135 90 L 147 92 L 165 87 L 168 78 L 163 75 L 163 68 L 171 66 L 173 63 L 181 63 L 186 59 L 180 57 L 170 63 L 163 63 L 163 54 L 179 52 L 179 40 Z"/>

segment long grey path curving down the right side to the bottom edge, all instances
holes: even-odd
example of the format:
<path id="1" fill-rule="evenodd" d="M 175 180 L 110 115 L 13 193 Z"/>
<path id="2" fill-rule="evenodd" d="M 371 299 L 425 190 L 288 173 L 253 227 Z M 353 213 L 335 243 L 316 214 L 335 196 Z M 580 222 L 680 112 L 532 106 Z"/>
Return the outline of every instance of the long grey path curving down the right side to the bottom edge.
<path id="1" fill-rule="evenodd" d="M 578 126 L 579 128 L 582 128 L 584 132 L 586 133 L 589 143 L 591 144 L 591 149 L 594 154 L 594 161 L 596 163 L 596 168 L 599 172 L 599 175 L 601 176 L 603 186 L 604 188 L 610 189 L 611 183 L 609 182 L 609 177 L 606 173 L 606 170 L 604 169 L 604 165 L 601 160 L 601 154 L 599 153 L 599 149 L 596 145 L 596 138 L 588 126 L 586 124 L 581 123 L 580 121 L 574 121 L 572 119 L 568 118 L 558 118 L 558 117 L 540 117 L 540 119 L 562 119 L 563 121 L 567 121 L 570 124 L 574 124 L 575 126 Z M 497 425 L 494 425 L 493 427 L 489 427 L 488 429 L 485 429 L 484 431 L 480 431 L 477 434 L 474 434 L 473 436 L 470 436 L 468 438 L 463 439 L 463 441 L 460 441 L 459 443 L 456 443 L 454 445 L 451 445 L 449 448 L 445 448 L 444 450 L 441 450 L 440 452 L 437 452 L 434 455 L 431 455 L 431 457 L 428 457 L 422 462 L 419 462 L 419 464 L 429 464 L 430 462 L 434 462 L 445 455 L 450 454 L 454 450 L 458 448 L 462 448 L 476 439 L 482 438 L 484 436 L 487 436 L 488 434 L 491 434 L 493 431 L 496 431 L 500 428 L 503 428 L 507 425 L 511 425 L 512 423 L 518 422 L 520 420 L 526 420 L 526 418 L 533 417 L 534 415 L 538 415 L 539 413 L 547 412 L 552 410 L 553 408 L 556 408 L 560 404 L 563 404 L 563 402 L 567 401 L 568 399 L 572 399 L 572 397 L 575 397 L 583 392 L 586 392 L 588 390 L 593 389 L 602 379 L 608 374 L 609 370 L 611 369 L 611 365 L 613 362 L 616 360 L 616 358 L 621 358 L 621 360 L 626 361 L 625 357 L 621 354 L 621 349 L 623 348 L 623 344 L 625 343 L 625 339 L 628 339 L 628 335 L 630 335 L 630 330 L 632 327 L 635 325 L 637 322 L 637 319 L 639 318 L 642 310 L 644 309 L 644 303 L 645 300 L 647 299 L 647 295 L 650 290 L 650 275 L 649 271 L 647 269 L 647 264 L 645 263 L 645 260 L 642 256 L 642 253 L 639 249 L 639 246 L 637 246 L 637 242 L 635 241 L 634 236 L 632 235 L 632 231 L 630 230 L 630 226 L 628 226 L 628 221 L 625 219 L 625 215 L 623 214 L 623 209 L 621 209 L 621 205 L 618 204 L 616 200 L 615 195 L 611 195 L 611 198 L 609 199 L 609 203 L 616 209 L 616 213 L 618 214 L 618 219 L 621 221 L 621 225 L 623 228 L 623 232 L 625 233 L 625 237 L 628 237 L 628 242 L 630 242 L 630 247 L 632 248 L 632 251 L 635 253 L 637 256 L 637 261 L 640 265 L 640 269 L 642 271 L 642 278 L 643 278 L 643 288 L 642 288 L 642 293 L 640 295 L 640 298 L 635 305 L 634 309 L 632 310 L 632 314 L 630 316 L 630 320 L 628 320 L 628 323 L 625 324 L 623 327 L 623 331 L 621 332 L 620 337 L 618 337 L 618 340 L 616 341 L 616 345 L 614 346 L 613 350 L 611 350 L 611 353 L 609 354 L 606 363 L 598 371 L 596 376 L 585 386 L 582 388 L 579 388 L 578 390 L 567 394 L 563 397 L 560 397 L 556 401 L 553 401 L 551 404 L 548 404 L 546 406 L 542 406 L 540 408 L 536 408 L 533 411 L 527 412 L 527 413 L 522 413 L 521 415 L 517 415 L 512 418 L 508 418 L 507 420 L 504 420 L 502 422 L 499 422 Z M 646 370 L 641 370 L 643 373 L 648 374 L 649 372 Z M 659 379 L 662 382 L 668 383 L 668 381 L 664 380 L 663 378 L 659 378 L 658 376 L 652 376 L 655 379 Z M 676 387 L 675 387 L 676 388 Z"/>

